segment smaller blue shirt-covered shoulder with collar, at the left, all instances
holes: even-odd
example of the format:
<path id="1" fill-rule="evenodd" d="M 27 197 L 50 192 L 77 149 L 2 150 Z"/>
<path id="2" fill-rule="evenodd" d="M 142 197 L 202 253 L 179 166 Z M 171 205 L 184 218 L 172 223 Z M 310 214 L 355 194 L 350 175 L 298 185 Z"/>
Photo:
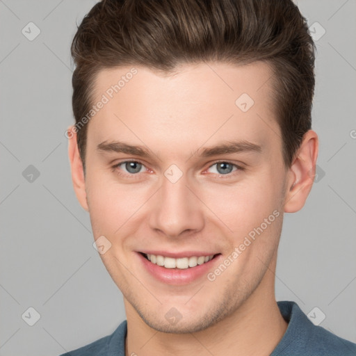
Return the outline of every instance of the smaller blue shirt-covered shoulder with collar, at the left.
<path id="1" fill-rule="evenodd" d="M 125 320 L 117 327 L 113 334 L 60 356 L 124 356 L 126 334 L 127 321 Z"/>

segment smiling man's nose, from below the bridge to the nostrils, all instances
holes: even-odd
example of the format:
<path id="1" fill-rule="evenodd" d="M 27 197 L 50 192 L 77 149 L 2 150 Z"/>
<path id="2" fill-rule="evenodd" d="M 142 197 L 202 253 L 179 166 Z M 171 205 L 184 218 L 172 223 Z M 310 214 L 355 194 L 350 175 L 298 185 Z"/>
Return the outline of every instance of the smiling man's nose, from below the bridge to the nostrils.
<path id="1" fill-rule="evenodd" d="M 175 183 L 163 177 L 161 189 L 151 201 L 149 226 L 152 229 L 170 238 L 203 229 L 204 204 L 188 183 L 186 175 Z"/>

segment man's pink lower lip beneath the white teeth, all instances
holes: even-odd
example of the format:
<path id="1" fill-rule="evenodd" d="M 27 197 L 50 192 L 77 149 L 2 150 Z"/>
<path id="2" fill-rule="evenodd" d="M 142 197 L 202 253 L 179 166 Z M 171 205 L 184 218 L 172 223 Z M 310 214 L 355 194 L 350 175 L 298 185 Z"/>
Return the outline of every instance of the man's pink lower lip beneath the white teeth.
<path id="1" fill-rule="evenodd" d="M 156 264 L 152 264 L 152 262 L 143 257 L 140 252 L 137 252 L 137 254 L 145 269 L 148 270 L 148 272 L 153 275 L 157 280 L 165 284 L 191 283 L 199 279 L 203 275 L 206 275 L 213 267 L 213 264 L 215 264 L 216 261 L 218 261 L 218 259 L 220 259 L 220 257 L 222 256 L 221 254 L 218 254 L 217 256 L 213 257 L 213 259 L 208 262 L 205 262 L 204 264 L 200 264 L 195 267 L 189 267 L 186 269 L 179 269 L 165 268 Z"/>

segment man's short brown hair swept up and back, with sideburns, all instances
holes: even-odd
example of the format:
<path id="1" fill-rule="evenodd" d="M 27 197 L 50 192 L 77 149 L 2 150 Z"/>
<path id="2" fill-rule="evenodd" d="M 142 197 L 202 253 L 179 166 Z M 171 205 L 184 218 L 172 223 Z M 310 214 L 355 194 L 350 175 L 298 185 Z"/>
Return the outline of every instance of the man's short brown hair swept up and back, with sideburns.
<path id="1" fill-rule="evenodd" d="M 291 166 L 312 127 L 315 44 L 291 0 L 102 0 L 83 18 L 71 47 L 76 125 L 90 111 L 100 70 L 143 65 L 172 73 L 214 60 L 270 64 L 283 159 Z M 88 124 L 77 131 L 85 169 Z"/>

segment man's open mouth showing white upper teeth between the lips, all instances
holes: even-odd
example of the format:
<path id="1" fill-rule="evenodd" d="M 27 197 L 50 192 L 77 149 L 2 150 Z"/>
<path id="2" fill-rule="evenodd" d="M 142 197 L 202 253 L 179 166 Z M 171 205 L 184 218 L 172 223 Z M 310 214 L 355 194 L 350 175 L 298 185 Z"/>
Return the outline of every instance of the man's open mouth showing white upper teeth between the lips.
<path id="1" fill-rule="evenodd" d="M 161 266 L 168 269 L 173 270 L 186 270 L 195 268 L 196 266 L 201 266 L 203 264 L 207 264 L 212 259 L 215 259 L 220 255 L 218 254 L 210 254 L 207 256 L 191 256 L 191 257 L 166 257 L 161 254 L 147 254 L 144 252 L 139 252 L 147 261 L 151 262 L 151 264 L 155 264 L 156 266 Z"/>

